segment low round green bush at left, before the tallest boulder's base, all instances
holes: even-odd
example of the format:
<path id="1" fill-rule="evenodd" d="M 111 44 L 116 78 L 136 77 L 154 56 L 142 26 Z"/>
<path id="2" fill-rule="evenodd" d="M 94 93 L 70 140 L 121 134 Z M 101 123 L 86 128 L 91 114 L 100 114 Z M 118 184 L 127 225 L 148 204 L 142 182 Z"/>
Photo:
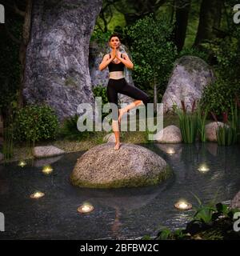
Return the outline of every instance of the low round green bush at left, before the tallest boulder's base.
<path id="1" fill-rule="evenodd" d="M 29 105 L 18 110 L 14 120 L 14 138 L 37 142 L 52 139 L 58 132 L 58 118 L 47 105 Z"/>

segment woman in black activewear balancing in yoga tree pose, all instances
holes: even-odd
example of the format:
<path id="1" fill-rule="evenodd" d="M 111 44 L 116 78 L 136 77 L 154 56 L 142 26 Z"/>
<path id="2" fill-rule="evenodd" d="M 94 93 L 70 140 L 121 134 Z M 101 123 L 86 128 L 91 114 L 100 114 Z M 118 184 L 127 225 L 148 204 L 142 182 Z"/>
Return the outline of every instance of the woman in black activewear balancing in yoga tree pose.
<path id="1" fill-rule="evenodd" d="M 136 99 L 126 107 L 122 109 L 120 108 L 117 115 L 113 113 L 112 126 L 115 135 L 114 150 L 118 150 L 121 144 L 118 125 L 121 122 L 122 115 L 136 106 L 142 104 L 146 106 L 147 102 L 149 102 L 149 97 L 146 93 L 134 86 L 130 86 L 126 82 L 126 79 L 124 78 L 124 67 L 126 66 L 132 70 L 134 64 L 130 61 L 130 58 L 126 53 L 121 54 L 119 52 L 120 45 L 121 42 L 118 34 L 112 34 L 109 39 L 111 52 L 103 57 L 102 62 L 99 65 L 99 70 L 104 70 L 106 66 L 109 68 L 110 79 L 107 84 L 107 98 L 110 103 L 114 103 L 118 106 L 118 93 Z"/>

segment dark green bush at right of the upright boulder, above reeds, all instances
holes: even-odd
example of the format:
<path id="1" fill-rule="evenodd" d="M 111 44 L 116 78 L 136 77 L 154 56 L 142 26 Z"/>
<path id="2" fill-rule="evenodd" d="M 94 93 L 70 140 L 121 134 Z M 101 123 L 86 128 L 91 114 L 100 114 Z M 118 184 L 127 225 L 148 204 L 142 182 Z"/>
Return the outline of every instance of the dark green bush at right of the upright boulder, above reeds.
<path id="1" fill-rule="evenodd" d="M 229 112 L 234 99 L 238 94 L 238 86 L 230 82 L 218 78 L 203 90 L 201 98 L 201 108 L 208 108 L 217 116 L 222 115 L 223 112 Z"/>

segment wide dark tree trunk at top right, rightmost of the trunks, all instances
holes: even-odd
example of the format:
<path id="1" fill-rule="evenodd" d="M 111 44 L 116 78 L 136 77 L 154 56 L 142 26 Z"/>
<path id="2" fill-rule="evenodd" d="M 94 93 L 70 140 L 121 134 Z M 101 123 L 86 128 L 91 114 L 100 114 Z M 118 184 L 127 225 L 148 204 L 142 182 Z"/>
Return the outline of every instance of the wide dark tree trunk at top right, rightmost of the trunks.
<path id="1" fill-rule="evenodd" d="M 215 37 L 214 26 L 220 26 L 221 10 L 222 0 L 220 2 L 219 0 L 202 0 L 194 46 L 199 46 L 201 42 Z"/>

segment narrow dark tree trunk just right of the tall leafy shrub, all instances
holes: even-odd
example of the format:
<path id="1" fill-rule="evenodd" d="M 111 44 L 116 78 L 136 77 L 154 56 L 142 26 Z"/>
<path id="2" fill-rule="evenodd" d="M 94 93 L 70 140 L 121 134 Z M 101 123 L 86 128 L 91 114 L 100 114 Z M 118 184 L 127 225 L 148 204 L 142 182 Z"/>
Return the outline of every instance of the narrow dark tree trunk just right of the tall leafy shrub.
<path id="1" fill-rule="evenodd" d="M 188 23 L 188 16 L 190 12 L 191 0 L 177 0 L 176 1 L 176 30 L 175 43 L 178 47 L 178 52 L 182 50 L 186 38 L 186 28 Z"/>

